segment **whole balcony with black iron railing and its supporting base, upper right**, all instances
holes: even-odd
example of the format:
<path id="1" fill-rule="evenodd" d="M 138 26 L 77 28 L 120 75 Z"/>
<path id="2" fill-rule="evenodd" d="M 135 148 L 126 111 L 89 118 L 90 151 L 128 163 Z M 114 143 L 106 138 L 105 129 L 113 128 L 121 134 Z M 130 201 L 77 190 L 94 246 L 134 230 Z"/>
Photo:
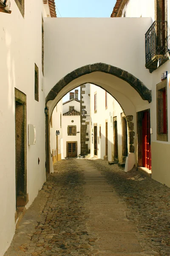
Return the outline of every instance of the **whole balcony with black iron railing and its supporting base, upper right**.
<path id="1" fill-rule="evenodd" d="M 145 34 L 145 67 L 152 73 L 157 69 L 158 59 L 161 65 L 167 61 L 167 21 L 154 21 Z"/>

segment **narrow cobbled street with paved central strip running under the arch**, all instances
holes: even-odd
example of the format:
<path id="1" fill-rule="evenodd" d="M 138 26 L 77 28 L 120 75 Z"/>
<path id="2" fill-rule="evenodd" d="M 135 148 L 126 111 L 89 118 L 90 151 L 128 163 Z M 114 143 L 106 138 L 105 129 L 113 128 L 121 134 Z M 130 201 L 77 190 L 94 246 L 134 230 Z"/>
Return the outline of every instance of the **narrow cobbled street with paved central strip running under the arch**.
<path id="1" fill-rule="evenodd" d="M 5 256 L 170 256 L 170 188 L 104 160 L 61 160 Z"/>

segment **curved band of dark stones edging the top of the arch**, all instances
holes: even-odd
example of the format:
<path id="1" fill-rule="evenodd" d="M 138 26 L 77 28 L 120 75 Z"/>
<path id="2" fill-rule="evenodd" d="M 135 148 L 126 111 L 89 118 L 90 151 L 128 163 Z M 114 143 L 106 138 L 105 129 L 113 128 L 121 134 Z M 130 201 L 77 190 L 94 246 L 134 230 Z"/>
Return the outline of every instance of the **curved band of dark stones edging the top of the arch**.
<path id="1" fill-rule="evenodd" d="M 151 91 L 142 83 L 142 81 L 137 79 L 135 76 L 133 76 L 125 70 L 122 70 L 119 67 L 113 67 L 105 63 L 95 63 L 86 65 L 84 67 L 80 67 L 72 71 L 71 73 L 67 74 L 61 80 L 59 80 L 57 84 L 48 93 L 45 102 L 47 103 L 49 100 L 54 100 L 57 94 L 60 92 L 60 90 L 62 90 L 62 88 L 64 88 L 71 81 L 79 78 L 80 76 L 84 76 L 86 74 L 90 74 L 97 71 L 108 73 L 113 76 L 117 76 L 120 79 L 123 79 L 139 93 L 143 100 L 147 100 L 149 103 L 152 101 Z"/>

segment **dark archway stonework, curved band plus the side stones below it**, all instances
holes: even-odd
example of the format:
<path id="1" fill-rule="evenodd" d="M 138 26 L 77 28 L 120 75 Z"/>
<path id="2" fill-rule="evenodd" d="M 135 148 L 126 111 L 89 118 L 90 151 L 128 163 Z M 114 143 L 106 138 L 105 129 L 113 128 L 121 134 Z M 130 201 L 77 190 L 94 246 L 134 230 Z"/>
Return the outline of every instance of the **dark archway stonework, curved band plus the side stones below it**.
<path id="1" fill-rule="evenodd" d="M 119 79 L 124 80 L 127 82 L 136 92 L 139 94 L 139 96 L 145 100 L 148 101 L 149 103 L 152 101 L 152 94 L 151 91 L 140 81 L 137 79 L 135 76 L 132 74 L 128 73 L 125 70 L 122 70 L 121 68 L 111 66 L 109 64 L 104 64 L 104 63 L 95 63 L 95 64 L 89 64 L 83 67 L 80 67 L 71 73 L 68 73 L 65 77 L 63 77 L 61 80 L 57 82 L 56 85 L 51 89 L 51 91 L 48 93 L 45 103 L 49 101 L 54 101 L 54 99 L 57 98 L 57 95 L 60 93 L 60 91 L 66 87 L 68 84 L 70 84 L 72 81 L 85 76 L 89 75 L 91 73 L 95 72 L 101 72 L 101 73 L 106 73 L 112 76 L 115 76 Z M 90 82 L 90 81 L 88 81 Z M 80 84 L 79 84 L 80 85 Z M 97 84 L 96 84 L 97 85 Z M 109 92 L 109 91 L 108 91 Z M 59 97 L 59 96 L 58 96 Z M 53 110 L 53 108 L 52 108 Z M 51 115 L 51 113 L 50 113 Z M 125 115 L 126 116 L 126 115 Z M 127 126 L 129 128 L 129 152 L 134 154 L 135 147 L 133 145 L 134 143 L 134 136 L 135 136 L 135 131 L 134 131 L 134 116 L 133 115 L 127 115 Z M 46 163 L 47 163 L 47 172 L 50 172 L 50 162 L 49 162 L 49 116 L 46 117 Z"/>

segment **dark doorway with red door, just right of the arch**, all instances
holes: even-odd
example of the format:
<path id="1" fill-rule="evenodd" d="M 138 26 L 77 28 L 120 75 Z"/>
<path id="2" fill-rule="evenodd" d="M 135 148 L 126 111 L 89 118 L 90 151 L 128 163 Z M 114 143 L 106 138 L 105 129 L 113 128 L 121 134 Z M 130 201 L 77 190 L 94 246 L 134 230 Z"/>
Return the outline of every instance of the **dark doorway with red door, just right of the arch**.
<path id="1" fill-rule="evenodd" d="M 137 113 L 138 166 L 151 170 L 150 110 Z"/>

